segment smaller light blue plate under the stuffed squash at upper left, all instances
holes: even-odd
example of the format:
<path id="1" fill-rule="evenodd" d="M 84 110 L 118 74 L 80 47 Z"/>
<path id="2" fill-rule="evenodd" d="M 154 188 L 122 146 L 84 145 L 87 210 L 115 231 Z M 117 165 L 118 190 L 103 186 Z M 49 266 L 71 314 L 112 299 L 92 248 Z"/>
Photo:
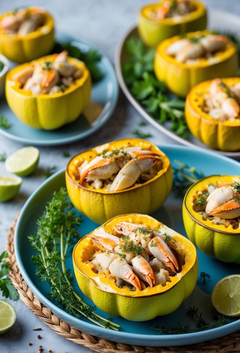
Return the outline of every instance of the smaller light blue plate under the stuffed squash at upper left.
<path id="1" fill-rule="evenodd" d="M 61 44 L 70 42 L 72 45 L 79 47 L 83 52 L 89 49 L 97 49 L 85 39 L 61 31 L 57 32 L 56 41 Z M 102 55 L 98 66 L 103 73 L 103 78 L 93 84 L 91 102 L 100 103 L 103 106 L 103 110 L 92 124 L 83 115 L 80 115 L 76 121 L 64 125 L 57 130 L 45 131 L 34 129 L 23 124 L 8 107 L 5 98 L 0 98 L 0 113 L 7 118 L 8 123 L 11 125 L 6 130 L 0 128 L 0 133 L 8 138 L 26 144 L 50 146 L 75 142 L 98 130 L 113 113 L 118 100 L 119 88 L 112 64 L 106 55 L 99 49 L 97 50 Z"/>

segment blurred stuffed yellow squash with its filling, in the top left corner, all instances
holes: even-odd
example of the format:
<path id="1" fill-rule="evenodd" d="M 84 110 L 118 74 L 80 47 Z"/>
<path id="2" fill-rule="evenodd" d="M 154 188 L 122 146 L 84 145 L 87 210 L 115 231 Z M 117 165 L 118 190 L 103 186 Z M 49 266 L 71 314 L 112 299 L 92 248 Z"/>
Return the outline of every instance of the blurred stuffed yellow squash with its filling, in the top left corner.
<path id="1" fill-rule="evenodd" d="M 50 52 L 54 21 L 42 7 L 20 8 L 0 16 L 0 53 L 19 64 Z"/>

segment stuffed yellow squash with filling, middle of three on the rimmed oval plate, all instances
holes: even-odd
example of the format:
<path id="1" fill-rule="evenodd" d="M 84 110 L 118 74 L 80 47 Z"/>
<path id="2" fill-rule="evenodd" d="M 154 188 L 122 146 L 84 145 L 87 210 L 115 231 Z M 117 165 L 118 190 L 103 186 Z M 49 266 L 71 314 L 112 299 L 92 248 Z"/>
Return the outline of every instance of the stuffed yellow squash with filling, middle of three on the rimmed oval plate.
<path id="1" fill-rule="evenodd" d="M 209 31 L 166 39 L 157 47 L 154 59 L 157 78 L 181 97 L 202 81 L 235 76 L 237 69 L 235 45 L 228 37 Z"/>

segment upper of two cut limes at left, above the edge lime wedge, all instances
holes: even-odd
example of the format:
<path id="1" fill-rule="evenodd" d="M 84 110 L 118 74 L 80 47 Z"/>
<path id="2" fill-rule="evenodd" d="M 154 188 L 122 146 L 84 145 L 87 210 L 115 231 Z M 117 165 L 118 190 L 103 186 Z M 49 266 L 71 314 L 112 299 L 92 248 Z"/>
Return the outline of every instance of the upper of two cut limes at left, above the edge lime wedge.
<path id="1" fill-rule="evenodd" d="M 34 172 L 39 160 L 39 150 L 29 146 L 15 151 L 5 161 L 8 172 L 26 177 Z"/>

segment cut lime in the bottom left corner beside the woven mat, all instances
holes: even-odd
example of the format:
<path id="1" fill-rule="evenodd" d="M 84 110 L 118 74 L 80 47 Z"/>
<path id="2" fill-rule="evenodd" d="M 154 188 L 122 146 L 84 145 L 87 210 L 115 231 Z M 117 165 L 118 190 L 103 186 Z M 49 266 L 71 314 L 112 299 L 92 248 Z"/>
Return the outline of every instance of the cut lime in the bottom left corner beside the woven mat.
<path id="1" fill-rule="evenodd" d="M 0 335 L 7 332 L 14 325 L 17 313 L 6 300 L 0 299 Z"/>

